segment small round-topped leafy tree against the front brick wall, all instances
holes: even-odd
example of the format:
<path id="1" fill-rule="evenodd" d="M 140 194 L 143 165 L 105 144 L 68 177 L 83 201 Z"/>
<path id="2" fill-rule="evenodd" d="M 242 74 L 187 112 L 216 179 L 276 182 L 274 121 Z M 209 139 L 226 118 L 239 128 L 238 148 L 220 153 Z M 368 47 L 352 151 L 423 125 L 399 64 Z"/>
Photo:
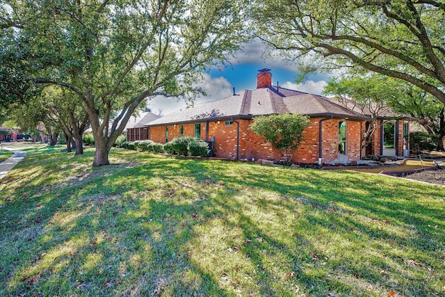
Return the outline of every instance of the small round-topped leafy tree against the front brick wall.
<path id="1" fill-rule="evenodd" d="M 291 160 L 293 151 L 300 145 L 302 133 L 309 124 L 309 118 L 304 115 L 286 113 L 260 115 L 254 118 L 250 128 L 254 134 L 266 138 L 275 149 L 280 150 L 287 160 Z"/>

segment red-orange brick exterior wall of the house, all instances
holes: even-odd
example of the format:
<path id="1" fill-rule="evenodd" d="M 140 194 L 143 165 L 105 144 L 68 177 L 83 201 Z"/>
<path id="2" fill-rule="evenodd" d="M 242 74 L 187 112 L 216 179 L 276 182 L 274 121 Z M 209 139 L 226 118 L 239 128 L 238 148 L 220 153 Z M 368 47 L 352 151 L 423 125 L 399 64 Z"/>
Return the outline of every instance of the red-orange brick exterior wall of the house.
<path id="1" fill-rule="evenodd" d="M 294 161 L 302 163 L 318 162 L 318 129 L 320 118 L 311 119 L 311 124 L 303 133 L 300 147 L 293 155 Z M 264 138 L 254 134 L 250 129 L 251 120 L 237 120 L 239 123 L 239 159 L 283 159 L 280 152 L 274 150 Z M 339 120 L 325 120 L 322 123 L 322 162 L 338 161 L 338 125 Z M 168 140 L 179 137 L 181 125 L 168 126 Z M 348 161 L 360 159 L 360 122 L 347 121 L 346 158 Z M 156 143 L 165 143 L 165 126 L 150 127 L 150 139 Z M 195 136 L 195 123 L 184 124 L 184 136 Z M 215 156 L 236 159 L 237 124 L 225 125 L 224 121 L 210 122 L 208 139 L 206 139 L 206 122 L 201 122 L 201 139 L 211 140 L 214 136 Z"/>

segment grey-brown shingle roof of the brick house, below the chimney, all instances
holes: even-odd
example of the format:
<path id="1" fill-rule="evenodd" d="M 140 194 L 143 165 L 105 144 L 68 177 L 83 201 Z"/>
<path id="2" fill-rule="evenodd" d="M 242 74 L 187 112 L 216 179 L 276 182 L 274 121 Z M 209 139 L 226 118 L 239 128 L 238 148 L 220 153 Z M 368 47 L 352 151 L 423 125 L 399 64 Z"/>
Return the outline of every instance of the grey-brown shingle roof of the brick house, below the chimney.
<path id="1" fill-rule="evenodd" d="M 275 113 L 300 113 L 309 116 L 334 115 L 357 119 L 367 118 L 322 96 L 286 88 L 277 90 L 274 86 L 266 86 L 266 88 L 257 88 L 255 90 L 243 90 L 237 95 L 224 99 L 179 109 L 149 122 L 148 125 L 165 125 L 211 118 L 236 118 Z"/>

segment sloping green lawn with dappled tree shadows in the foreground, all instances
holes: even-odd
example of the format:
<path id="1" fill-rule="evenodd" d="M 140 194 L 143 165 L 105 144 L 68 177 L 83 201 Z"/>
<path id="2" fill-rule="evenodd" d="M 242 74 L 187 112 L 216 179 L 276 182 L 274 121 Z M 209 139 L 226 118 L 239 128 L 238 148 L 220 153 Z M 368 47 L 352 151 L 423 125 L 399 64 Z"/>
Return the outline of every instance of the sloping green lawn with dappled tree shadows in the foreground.
<path id="1" fill-rule="evenodd" d="M 445 191 L 357 172 L 29 151 L 0 296 L 444 296 Z"/>

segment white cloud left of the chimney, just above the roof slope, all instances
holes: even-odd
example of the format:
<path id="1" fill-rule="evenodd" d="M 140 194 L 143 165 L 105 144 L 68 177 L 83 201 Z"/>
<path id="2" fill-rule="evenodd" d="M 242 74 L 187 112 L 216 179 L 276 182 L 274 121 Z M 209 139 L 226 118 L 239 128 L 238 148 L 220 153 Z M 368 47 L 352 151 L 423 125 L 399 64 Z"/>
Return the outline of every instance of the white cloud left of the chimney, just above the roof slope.
<path id="1" fill-rule="evenodd" d="M 207 96 L 198 97 L 195 103 L 202 103 L 207 101 L 213 101 L 216 99 L 223 99 L 232 95 L 232 85 L 224 77 L 211 77 L 209 74 L 202 74 L 202 81 L 198 83 L 198 86 L 203 88 L 207 93 Z M 186 102 L 183 100 L 177 100 L 177 98 L 165 98 L 162 96 L 156 96 L 149 100 L 148 107 L 154 113 L 162 111 L 163 115 L 176 111 L 183 107 L 186 107 Z"/>

